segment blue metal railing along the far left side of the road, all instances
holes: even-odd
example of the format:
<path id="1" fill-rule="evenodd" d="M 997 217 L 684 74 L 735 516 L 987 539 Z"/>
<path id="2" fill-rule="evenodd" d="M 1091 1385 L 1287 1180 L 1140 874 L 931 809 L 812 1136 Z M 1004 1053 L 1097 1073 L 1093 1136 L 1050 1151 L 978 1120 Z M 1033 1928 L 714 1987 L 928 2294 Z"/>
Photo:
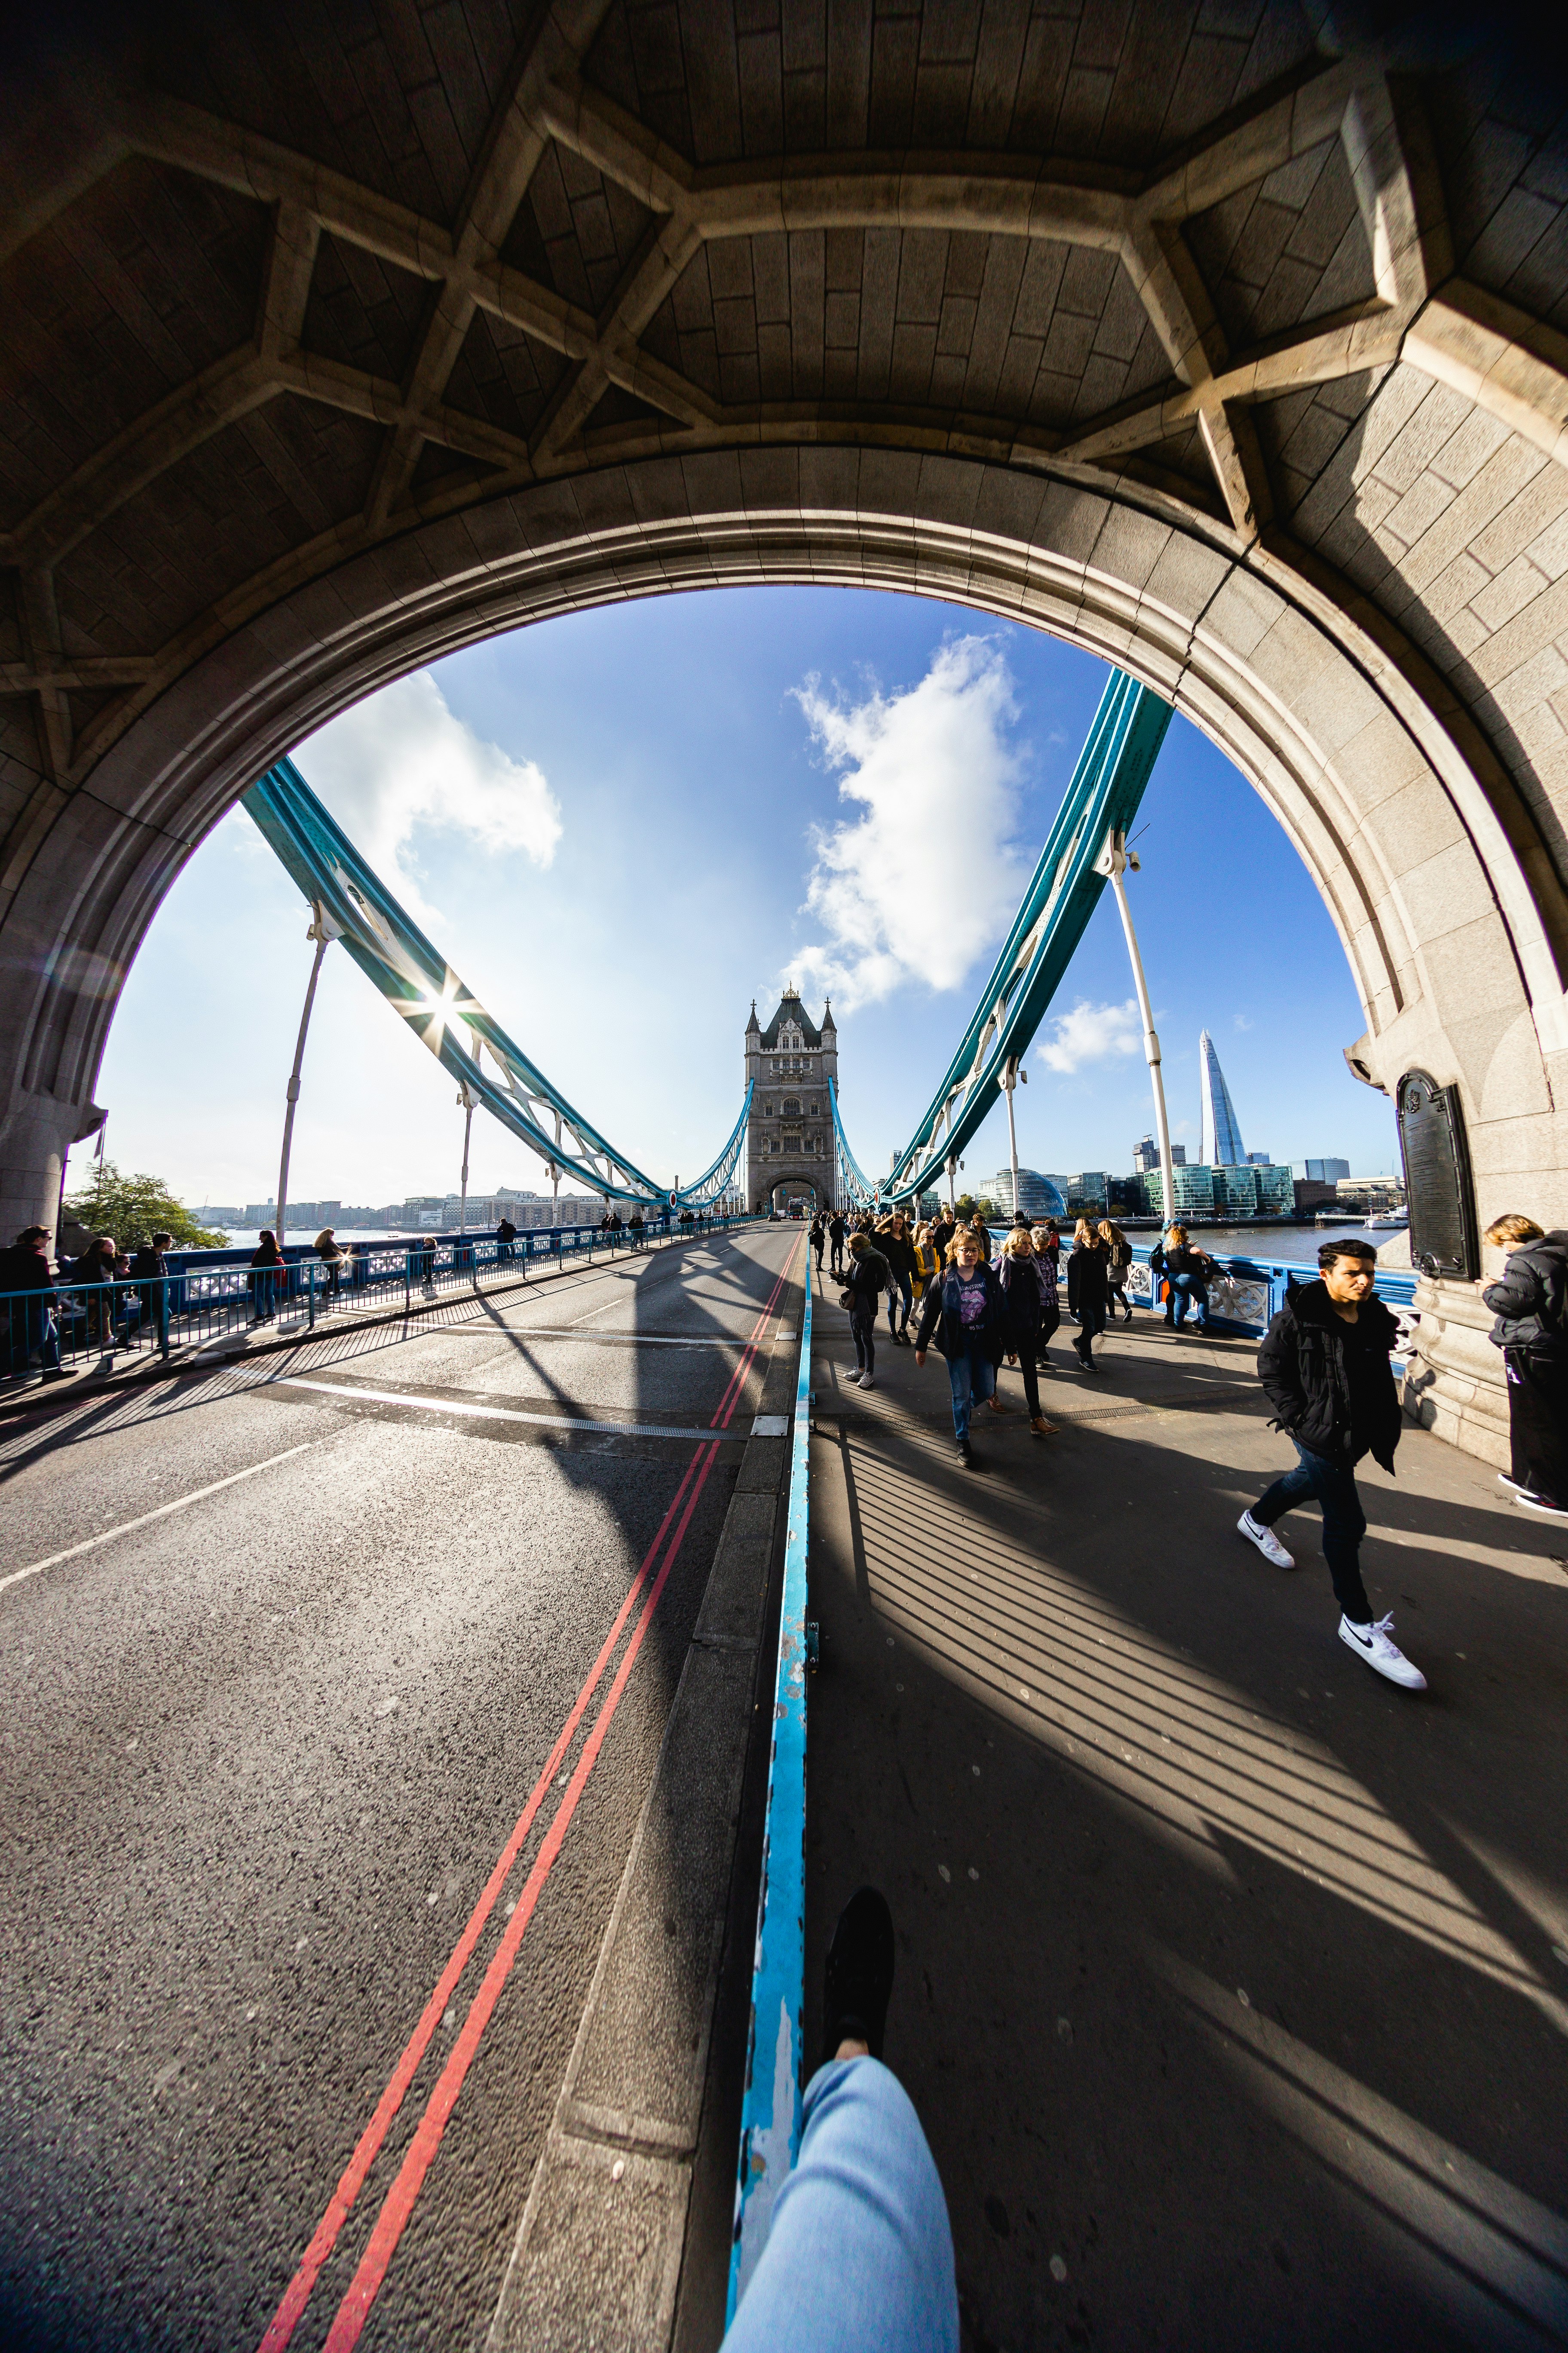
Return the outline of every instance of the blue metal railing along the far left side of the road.
<path id="1" fill-rule="evenodd" d="M 651 1224 L 642 1238 L 625 1226 L 531 1226 L 512 1242 L 494 1233 L 442 1233 L 346 1242 L 336 1264 L 299 1245 L 277 1266 L 254 1266 L 249 1249 L 165 1252 L 165 1275 L 132 1273 L 115 1282 L 75 1282 L 66 1271 L 49 1289 L 0 1292 L 0 1386 L 26 1381 L 35 1365 L 54 1372 L 96 1360 L 108 1369 L 122 1355 L 209 1348 L 256 1325 L 292 1334 L 397 1304 L 411 1313 L 487 1280 L 527 1280 L 567 1261 L 592 1266 L 595 1257 L 630 1257 L 750 1224 L 750 1217 L 693 1214 Z"/>

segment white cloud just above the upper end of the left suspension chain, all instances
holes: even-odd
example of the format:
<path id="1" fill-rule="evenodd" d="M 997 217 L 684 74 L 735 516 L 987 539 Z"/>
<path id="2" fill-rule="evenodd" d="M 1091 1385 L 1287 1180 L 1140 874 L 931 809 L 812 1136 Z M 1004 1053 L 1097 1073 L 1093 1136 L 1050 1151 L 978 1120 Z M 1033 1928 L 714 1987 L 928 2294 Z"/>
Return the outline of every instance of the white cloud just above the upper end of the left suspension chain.
<path id="1" fill-rule="evenodd" d="M 447 708 L 430 671 L 414 671 L 329 720 L 299 767 L 350 842 L 414 915 L 437 915 L 411 856 L 421 828 L 468 833 L 480 849 L 522 849 L 548 866 L 562 812 L 543 769 L 512 760 Z"/>

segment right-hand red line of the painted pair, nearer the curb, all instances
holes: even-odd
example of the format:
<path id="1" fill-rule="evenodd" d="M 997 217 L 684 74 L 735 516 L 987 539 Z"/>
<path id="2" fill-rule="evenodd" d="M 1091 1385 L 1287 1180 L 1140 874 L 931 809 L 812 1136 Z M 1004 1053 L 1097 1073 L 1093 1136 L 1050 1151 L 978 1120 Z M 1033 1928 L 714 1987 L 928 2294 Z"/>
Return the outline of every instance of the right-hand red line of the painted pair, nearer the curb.
<path id="1" fill-rule="evenodd" d="M 632 1666 L 637 1664 L 642 1638 L 649 1631 L 649 1621 L 658 1607 L 658 1595 L 663 1593 L 665 1579 L 675 1567 L 675 1555 L 682 1548 L 682 1539 L 686 1534 L 686 1527 L 691 1525 L 691 1513 L 696 1511 L 698 1497 L 708 1485 L 708 1473 L 715 1466 L 719 1447 L 717 1442 L 708 1440 L 708 1445 L 701 1447 L 698 1452 L 703 1452 L 708 1461 L 701 1468 L 701 1475 L 682 1513 L 682 1522 L 675 1529 L 670 1551 L 665 1553 L 665 1565 L 658 1572 L 654 1591 L 649 1593 L 642 1607 L 642 1617 L 637 1619 L 632 1640 L 625 1645 L 625 1657 L 616 1668 L 616 1680 L 611 1682 L 604 1706 L 599 1708 L 599 1715 L 595 1720 L 595 1727 L 588 1734 L 576 1772 L 567 1784 L 567 1795 L 562 1798 L 555 1819 L 545 1831 L 545 1840 L 534 1859 L 534 1868 L 529 1871 L 524 1889 L 517 1897 L 517 1911 L 508 1922 L 505 1937 L 496 1946 L 496 1958 L 484 1972 L 484 1984 L 473 1998 L 468 2017 L 463 2019 L 463 2031 L 458 2033 L 458 2040 L 451 2047 L 451 2057 L 442 2068 L 440 2082 L 435 2085 L 425 2113 L 418 2120 L 418 2129 L 414 2134 L 414 2141 L 409 2144 L 407 2158 L 402 2160 L 397 2181 L 386 2193 L 386 2202 L 381 2207 L 381 2214 L 376 2217 L 376 2228 L 371 2231 L 369 2247 L 364 2249 L 364 2257 L 360 2259 L 360 2268 L 353 2275 L 348 2294 L 339 2304 L 336 2320 L 327 2332 L 324 2353 L 353 2353 L 353 2348 L 357 2346 L 360 2329 L 364 2327 L 369 2308 L 376 2301 L 376 2289 L 386 2278 L 386 2268 L 393 2261 L 393 2254 L 397 2252 L 397 2240 L 402 2238 L 404 2224 L 414 2212 L 414 2200 L 418 2198 L 425 2174 L 435 2162 L 435 2153 L 442 2146 L 442 2132 L 447 2129 L 447 2118 L 456 2106 L 458 2092 L 463 2089 L 463 2078 L 468 2075 L 468 2068 L 473 2066 L 475 2054 L 480 2049 L 480 2035 L 489 2026 L 491 2012 L 501 2000 L 501 1988 L 505 1986 L 512 1962 L 517 1960 L 517 1948 L 522 1946 L 524 1929 L 534 1918 L 534 1906 L 538 1904 L 545 1880 L 550 1878 L 550 1868 L 557 1854 L 562 1852 L 562 1842 L 567 1838 L 567 1828 L 576 1812 L 576 1802 L 583 1795 L 588 1777 L 599 1760 L 604 1734 L 609 1732 L 614 1713 L 621 1706 L 621 1694 L 625 1689 L 628 1675 L 632 1673 Z"/>

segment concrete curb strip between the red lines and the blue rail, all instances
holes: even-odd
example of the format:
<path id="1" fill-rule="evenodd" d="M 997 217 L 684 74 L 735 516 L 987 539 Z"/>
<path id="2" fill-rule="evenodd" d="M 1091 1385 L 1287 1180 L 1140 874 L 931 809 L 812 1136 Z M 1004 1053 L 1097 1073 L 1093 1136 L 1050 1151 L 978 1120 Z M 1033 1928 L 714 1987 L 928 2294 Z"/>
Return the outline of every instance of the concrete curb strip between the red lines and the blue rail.
<path id="1" fill-rule="evenodd" d="M 802 1278 L 778 1308 L 797 1329 L 799 1299 Z M 785 1431 L 795 1379 L 797 1344 L 785 1344 L 759 1405 Z M 719 2148 L 731 2101 L 715 2019 L 729 2009 L 736 1941 L 750 1967 L 755 1918 L 738 1920 L 736 1906 L 745 1911 L 755 1873 L 736 1849 L 788 1473 L 788 1435 L 748 1440 L 489 2353 L 665 2353 L 677 2304 L 708 2304 L 703 2289 L 717 2308 L 703 2334 L 722 2337 L 729 2205 L 717 2247 L 710 2217 L 691 2207 L 698 2167 L 717 2167 L 719 2188 L 733 2177 L 733 2132 Z M 693 2266 L 715 2278 L 691 2282 Z"/>

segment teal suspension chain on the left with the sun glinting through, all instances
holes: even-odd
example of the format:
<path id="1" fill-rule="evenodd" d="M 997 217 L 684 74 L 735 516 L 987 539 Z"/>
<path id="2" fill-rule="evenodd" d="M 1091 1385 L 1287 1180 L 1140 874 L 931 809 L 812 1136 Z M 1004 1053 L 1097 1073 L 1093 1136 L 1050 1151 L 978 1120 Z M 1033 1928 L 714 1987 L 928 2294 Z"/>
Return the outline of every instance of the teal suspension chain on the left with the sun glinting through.
<path id="1" fill-rule="evenodd" d="M 693 1184 L 661 1186 L 616 1151 L 484 1012 L 447 958 L 371 873 L 292 760 L 270 767 L 249 793 L 242 793 L 242 805 L 306 894 L 327 936 L 343 941 L 360 972 L 376 984 L 442 1068 L 536 1151 L 552 1176 L 576 1176 L 604 1200 L 628 1202 L 672 1200 L 698 1207 L 726 1193 L 745 1144 L 750 1085 L 717 1160 Z M 473 1052 L 461 1042 L 458 1024 L 473 1038 Z"/>

